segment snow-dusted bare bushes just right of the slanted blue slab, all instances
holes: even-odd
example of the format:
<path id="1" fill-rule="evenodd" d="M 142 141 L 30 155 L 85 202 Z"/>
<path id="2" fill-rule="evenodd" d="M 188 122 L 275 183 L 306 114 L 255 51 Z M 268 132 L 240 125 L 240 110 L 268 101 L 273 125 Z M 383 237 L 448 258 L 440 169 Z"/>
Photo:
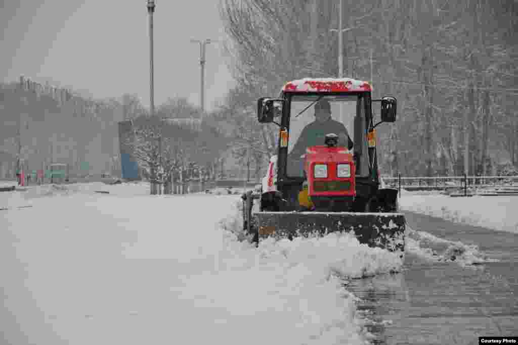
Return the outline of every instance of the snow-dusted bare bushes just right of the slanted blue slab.
<path id="1" fill-rule="evenodd" d="M 173 182 L 185 183 L 191 177 L 207 181 L 227 145 L 217 128 L 195 118 L 141 115 L 134 119 L 134 128 L 135 136 L 127 144 L 149 178 L 152 194 L 161 193 L 162 187 L 171 193 Z"/>

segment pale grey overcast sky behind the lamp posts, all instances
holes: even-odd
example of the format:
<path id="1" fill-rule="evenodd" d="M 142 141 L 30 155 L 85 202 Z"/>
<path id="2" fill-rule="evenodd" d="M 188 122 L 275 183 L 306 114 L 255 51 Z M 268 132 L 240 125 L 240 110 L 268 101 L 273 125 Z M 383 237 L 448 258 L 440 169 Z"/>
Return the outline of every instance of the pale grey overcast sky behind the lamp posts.
<path id="1" fill-rule="evenodd" d="M 0 0 L 0 77 L 50 81 L 95 98 L 136 93 L 149 106 L 147 0 Z M 224 38 L 218 0 L 155 0 L 155 106 L 199 105 L 199 46 Z M 233 85 L 219 43 L 207 46 L 206 108 Z"/>

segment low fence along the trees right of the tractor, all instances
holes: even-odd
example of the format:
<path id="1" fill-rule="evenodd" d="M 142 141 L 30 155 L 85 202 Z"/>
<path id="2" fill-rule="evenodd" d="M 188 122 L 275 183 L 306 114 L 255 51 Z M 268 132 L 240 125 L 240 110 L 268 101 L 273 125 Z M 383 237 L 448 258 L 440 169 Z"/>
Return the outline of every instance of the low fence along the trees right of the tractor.
<path id="1" fill-rule="evenodd" d="M 468 189 L 518 187 L 518 176 L 421 176 L 383 177 L 387 186 L 405 190 L 459 190 L 467 195 Z"/>

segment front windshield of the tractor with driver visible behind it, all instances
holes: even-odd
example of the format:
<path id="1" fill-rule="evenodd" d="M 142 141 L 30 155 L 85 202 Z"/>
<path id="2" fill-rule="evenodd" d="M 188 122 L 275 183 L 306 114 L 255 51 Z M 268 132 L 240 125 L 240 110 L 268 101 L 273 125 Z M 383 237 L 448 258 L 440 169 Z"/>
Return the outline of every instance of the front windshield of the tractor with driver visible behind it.
<path id="1" fill-rule="evenodd" d="M 328 133 L 338 135 L 339 146 L 352 149 L 353 143 L 363 145 L 365 142 L 363 138 L 358 138 L 358 142 L 354 138 L 354 119 L 357 115 L 362 122 L 362 127 L 366 128 L 363 103 L 364 98 L 357 95 L 293 95 L 290 109 L 287 175 L 304 177 L 303 155 L 306 153 L 306 148 L 324 145 L 325 135 Z M 357 114 L 358 110 L 359 114 Z M 363 150 L 363 152 L 366 151 Z M 368 167 L 362 171 L 367 172 Z"/>

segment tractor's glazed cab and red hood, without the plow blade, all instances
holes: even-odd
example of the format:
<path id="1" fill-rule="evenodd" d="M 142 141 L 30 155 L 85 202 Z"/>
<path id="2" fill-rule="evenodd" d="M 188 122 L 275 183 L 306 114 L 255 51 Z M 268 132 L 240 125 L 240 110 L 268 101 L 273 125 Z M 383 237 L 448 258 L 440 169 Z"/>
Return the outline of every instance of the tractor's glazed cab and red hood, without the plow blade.
<path id="1" fill-rule="evenodd" d="M 378 123 L 373 102 L 380 104 Z M 276 209 L 376 212 L 386 208 L 379 202 L 386 191 L 379 191 L 375 128 L 395 121 L 394 97 L 372 99 L 370 84 L 354 79 L 296 80 L 286 83 L 278 98 L 260 98 L 257 117 L 260 123 L 279 126 L 277 171 L 271 171 L 280 192 L 276 195 L 282 196 L 273 202 Z M 307 199 L 300 194 L 305 189 L 309 205 L 301 202 Z"/>

